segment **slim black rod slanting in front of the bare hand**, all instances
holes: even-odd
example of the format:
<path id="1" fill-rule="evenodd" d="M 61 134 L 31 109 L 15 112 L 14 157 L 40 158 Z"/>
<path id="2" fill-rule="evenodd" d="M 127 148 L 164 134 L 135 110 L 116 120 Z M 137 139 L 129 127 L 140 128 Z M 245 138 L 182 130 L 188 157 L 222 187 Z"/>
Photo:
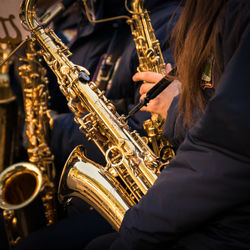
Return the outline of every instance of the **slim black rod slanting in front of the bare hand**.
<path id="1" fill-rule="evenodd" d="M 176 67 L 174 67 L 167 76 L 174 76 L 176 74 Z M 154 99 L 158 96 L 165 88 L 167 88 L 172 81 L 166 79 L 164 76 L 158 83 L 151 88 L 144 99 L 142 99 L 135 107 L 133 107 L 128 115 L 124 118 L 124 121 L 128 120 L 131 116 L 133 116 L 136 112 L 138 112 L 143 106 L 147 106 L 150 100 Z"/>

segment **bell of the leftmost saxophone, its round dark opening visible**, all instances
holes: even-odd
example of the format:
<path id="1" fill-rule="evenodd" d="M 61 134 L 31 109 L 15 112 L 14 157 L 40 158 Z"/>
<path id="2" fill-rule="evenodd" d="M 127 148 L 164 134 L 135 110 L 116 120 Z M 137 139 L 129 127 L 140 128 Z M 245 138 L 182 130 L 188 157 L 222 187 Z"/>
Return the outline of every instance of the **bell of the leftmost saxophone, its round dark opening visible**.
<path id="1" fill-rule="evenodd" d="M 46 225 L 39 193 L 43 189 L 42 173 L 34 164 L 20 162 L 0 174 L 0 207 L 10 248 L 31 232 Z M 32 218 L 31 218 L 32 217 Z"/>

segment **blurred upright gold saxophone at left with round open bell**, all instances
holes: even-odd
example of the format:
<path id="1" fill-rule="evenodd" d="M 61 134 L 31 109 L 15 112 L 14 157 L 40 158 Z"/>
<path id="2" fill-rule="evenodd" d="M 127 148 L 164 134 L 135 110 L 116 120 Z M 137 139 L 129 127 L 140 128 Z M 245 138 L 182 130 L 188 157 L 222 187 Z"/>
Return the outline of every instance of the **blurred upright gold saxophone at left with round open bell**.
<path id="1" fill-rule="evenodd" d="M 56 220 L 53 155 L 47 145 L 48 80 L 41 56 L 29 42 L 20 58 L 29 162 L 20 162 L 0 174 L 0 207 L 9 246 Z"/>

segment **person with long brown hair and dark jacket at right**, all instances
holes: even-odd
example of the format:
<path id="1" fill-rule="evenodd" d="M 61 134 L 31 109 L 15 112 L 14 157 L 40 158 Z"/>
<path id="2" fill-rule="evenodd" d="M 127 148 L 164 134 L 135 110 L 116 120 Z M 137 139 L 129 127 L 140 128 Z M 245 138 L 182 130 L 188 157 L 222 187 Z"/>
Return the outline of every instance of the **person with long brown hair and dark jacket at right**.
<path id="1" fill-rule="evenodd" d="M 85 250 L 249 249 L 249 13 L 249 1 L 185 1 L 174 31 L 185 139 L 127 211 L 119 234 L 100 237 Z M 134 80 L 161 77 L 147 72 Z M 158 101 L 144 110 L 159 112 Z M 169 106 L 175 104 L 166 103 L 167 121 Z"/>

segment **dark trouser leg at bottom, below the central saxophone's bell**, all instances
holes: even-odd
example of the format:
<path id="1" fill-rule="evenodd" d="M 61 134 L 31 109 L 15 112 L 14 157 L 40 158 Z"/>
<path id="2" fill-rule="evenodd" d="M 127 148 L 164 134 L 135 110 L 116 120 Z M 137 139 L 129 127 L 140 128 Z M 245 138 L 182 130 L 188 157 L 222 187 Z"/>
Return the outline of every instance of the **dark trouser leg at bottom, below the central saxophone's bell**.
<path id="1" fill-rule="evenodd" d="M 113 229 L 93 210 L 30 234 L 15 250 L 83 250 L 91 240 L 109 232 Z"/>

